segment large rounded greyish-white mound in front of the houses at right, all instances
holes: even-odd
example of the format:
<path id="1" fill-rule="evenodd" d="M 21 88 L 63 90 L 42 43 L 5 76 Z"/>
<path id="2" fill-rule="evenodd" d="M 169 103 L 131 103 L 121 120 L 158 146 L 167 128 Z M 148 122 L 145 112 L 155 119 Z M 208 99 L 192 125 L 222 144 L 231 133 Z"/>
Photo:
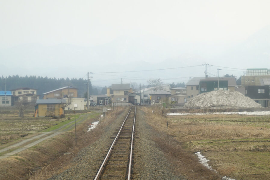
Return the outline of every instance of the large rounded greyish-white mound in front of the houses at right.
<path id="1" fill-rule="evenodd" d="M 254 100 L 238 91 L 211 91 L 197 95 L 185 108 L 262 108 Z"/>

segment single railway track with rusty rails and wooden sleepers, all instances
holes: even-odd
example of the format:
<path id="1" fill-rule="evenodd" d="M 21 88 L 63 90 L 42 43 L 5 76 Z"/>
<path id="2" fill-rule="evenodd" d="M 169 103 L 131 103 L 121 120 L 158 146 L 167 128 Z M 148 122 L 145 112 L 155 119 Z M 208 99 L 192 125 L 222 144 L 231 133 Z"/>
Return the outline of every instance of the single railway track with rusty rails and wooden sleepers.
<path id="1" fill-rule="evenodd" d="M 132 106 L 94 180 L 130 180 L 132 178 L 135 118 L 136 107 Z"/>

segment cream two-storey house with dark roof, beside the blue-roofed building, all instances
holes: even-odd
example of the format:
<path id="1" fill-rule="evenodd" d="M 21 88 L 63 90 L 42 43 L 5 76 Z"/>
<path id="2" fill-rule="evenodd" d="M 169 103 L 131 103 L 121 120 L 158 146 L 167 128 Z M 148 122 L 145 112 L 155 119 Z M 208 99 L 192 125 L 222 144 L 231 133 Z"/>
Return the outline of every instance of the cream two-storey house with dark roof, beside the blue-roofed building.
<path id="1" fill-rule="evenodd" d="M 11 89 L 11 92 L 14 96 L 14 101 L 22 101 L 24 103 L 36 103 L 36 100 L 39 99 L 39 95 L 37 95 L 37 89 L 17 88 Z"/>

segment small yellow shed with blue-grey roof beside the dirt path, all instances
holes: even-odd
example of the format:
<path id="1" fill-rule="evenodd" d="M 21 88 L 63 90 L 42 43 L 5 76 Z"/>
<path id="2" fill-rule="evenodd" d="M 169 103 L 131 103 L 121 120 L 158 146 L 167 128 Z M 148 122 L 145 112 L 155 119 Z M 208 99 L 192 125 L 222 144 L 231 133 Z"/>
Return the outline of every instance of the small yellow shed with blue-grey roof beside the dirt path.
<path id="1" fill-rule="evenodd" d="M 64 114 L 67 101 L 65 99 L 38 99 L 35 107 L 35 117 L 53 117 Z"/>

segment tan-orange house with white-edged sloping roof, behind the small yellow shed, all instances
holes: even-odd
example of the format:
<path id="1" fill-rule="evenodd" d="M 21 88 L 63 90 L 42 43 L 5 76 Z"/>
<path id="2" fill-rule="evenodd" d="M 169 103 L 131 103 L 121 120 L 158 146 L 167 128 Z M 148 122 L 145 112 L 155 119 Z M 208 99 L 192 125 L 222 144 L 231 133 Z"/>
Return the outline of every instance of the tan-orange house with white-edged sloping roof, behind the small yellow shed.
<path id="1" fill-rule="evenodd" d="M 72 86 L 70 87 L 65 86 L 59 89 L 43 93 L 44 95 L 43 99 L 61 99 L 65 97 L 77 98 L 77 90 L 78 90 L 77 88 L 74 88 Z"/>

